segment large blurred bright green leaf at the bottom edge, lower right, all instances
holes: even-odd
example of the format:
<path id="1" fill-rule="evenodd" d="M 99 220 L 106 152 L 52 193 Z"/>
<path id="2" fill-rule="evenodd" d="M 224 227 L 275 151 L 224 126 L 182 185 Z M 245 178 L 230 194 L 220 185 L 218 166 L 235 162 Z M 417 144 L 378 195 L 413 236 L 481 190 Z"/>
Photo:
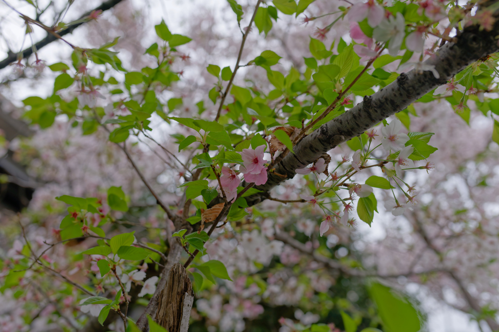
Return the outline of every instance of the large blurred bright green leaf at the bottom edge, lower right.
<path id="1" fill-rule="evenodd" d="M 383 321 L 385 331 L 420 331 L 421 322 L 418 311 L 405 296 L 379 283 L 371 284 L 369 293 L 378 307 L 378 314 Z"/>

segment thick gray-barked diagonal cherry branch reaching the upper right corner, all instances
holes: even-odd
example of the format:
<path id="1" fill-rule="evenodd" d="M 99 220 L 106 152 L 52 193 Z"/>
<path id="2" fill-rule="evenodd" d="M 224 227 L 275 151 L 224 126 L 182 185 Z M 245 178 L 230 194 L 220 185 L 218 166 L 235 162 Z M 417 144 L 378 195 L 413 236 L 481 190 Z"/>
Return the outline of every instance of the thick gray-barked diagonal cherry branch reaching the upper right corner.
<path id="1" fill-rule="evenodd" d="M 396 81 L 374 95 L 364 97 L 364 101 L 350 111 L 323 124 L 294 146 L 294 154 L 287 154 L 275 166 L 275 172 L 286 175 L 286 178 L 268 173 L 268 181 L 262 186 L 255 186 L 263 192 L 247 197 L 248 204 L 251 206 L 266 199 L 270 189 L 294 177 L 295 169 L 305 167 L 338 144 L 362 134 L 388 116 L 404 110 L 473 62 L 498 52 L 498 41 L 495 39 L 498 34 L 498 22 L 492 31 L 480 31 L 478 26 L 466 28 L 457 37 L 456 43 L 445 44 L 434 57 L 424 62 L 426 65 L 435 66 L 440 74 L 439 79 L 430 71 L 417 72 L 413 69 L 402 73 Z"/>

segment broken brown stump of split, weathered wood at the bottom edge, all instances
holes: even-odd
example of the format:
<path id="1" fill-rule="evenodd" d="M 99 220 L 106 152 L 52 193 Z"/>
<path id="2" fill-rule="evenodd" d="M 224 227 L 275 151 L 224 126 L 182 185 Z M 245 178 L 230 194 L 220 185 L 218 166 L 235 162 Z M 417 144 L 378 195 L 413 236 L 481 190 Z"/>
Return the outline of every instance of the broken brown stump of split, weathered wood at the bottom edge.
<path id="1" fill-rule="evenodd" d="M 156 322 L 168 332 L 187 332 L 194 292 L 186 269 L 180 263 L 173 265 L 166 287 L 161 292 Z"/>

